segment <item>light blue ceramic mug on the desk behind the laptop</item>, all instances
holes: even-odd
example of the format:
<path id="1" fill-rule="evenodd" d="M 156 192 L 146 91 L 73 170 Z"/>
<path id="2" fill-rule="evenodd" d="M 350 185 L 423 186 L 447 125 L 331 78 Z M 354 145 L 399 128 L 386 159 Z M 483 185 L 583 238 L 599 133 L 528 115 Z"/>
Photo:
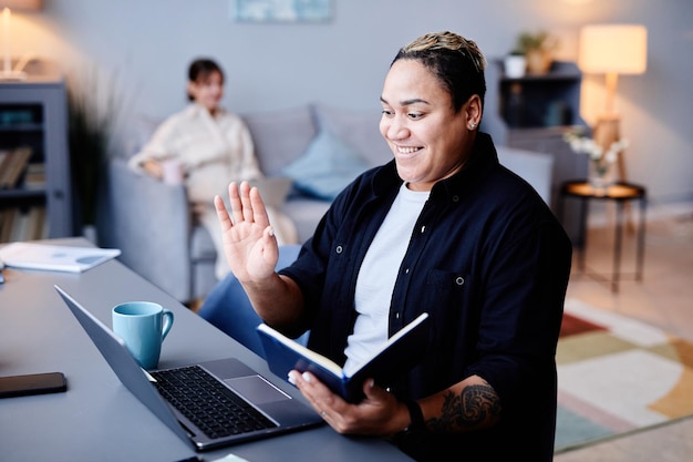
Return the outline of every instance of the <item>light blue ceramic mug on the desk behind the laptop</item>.
<path id="1" fill-rule="evenodd" d="M 128 301 L 113 307 L 113 332 L 144 369 L 158 365 L 162 342 L 174 321 L 172 311 L 151 301 Z"/>

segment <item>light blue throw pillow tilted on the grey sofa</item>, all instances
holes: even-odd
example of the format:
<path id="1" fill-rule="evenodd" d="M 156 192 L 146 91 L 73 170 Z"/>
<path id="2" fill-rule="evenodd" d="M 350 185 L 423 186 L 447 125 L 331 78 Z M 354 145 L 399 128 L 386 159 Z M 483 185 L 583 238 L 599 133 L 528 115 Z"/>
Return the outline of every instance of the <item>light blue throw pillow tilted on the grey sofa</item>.
<path id="1" fill-rule="evenodd" d="M 322 130 L 306 153 L 282 168 L 301 193 L 332 201 L 370 165 L 351 146 Z"/>

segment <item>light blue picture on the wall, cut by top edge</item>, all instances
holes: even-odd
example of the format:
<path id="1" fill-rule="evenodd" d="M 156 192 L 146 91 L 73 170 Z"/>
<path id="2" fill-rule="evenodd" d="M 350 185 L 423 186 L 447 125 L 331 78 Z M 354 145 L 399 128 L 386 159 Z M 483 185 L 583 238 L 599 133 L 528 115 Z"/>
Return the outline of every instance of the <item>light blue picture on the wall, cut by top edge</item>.
<path id="1" fill-rule="evenodd" d="M 230 0 L 237 22 L 324 22 L 332 18 L 332 0 Z"/>

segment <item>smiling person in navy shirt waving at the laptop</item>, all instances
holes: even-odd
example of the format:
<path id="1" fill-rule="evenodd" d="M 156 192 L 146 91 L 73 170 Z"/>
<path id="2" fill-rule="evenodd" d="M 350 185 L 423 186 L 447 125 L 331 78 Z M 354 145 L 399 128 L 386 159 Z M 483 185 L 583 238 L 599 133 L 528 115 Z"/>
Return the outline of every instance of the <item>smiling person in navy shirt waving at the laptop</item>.
<path id="1" fill-rule="evenodd" d="M 556 350 L 571 245 L 536 191 L 478 132 L 486 91 L 476 43 L 430 33 L 402 48 L 382 93 L 394 156 L 337 195 L 297 260 L 279 254 L 263 204 L 215 199 L 226 257 L 262 320 L 356 370 L 423 310 L 423 359 L 350 403 L 316 374 L 294 384 L 339 433 L 389 438 L 420 461 L 548 462 Z M 498 422 L 503 424 L 498 424 Z"/>

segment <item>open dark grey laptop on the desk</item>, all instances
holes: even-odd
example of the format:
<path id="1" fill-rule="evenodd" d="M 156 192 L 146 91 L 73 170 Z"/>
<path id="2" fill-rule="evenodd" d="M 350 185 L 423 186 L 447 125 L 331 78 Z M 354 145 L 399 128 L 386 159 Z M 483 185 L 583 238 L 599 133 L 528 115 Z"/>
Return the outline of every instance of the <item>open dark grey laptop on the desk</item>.
<path id="1" fill-rule="evenodd" d="M 145 371 L 120 337 L 62 288 L 54 287 L 121 382 L 197 451 L 269 438 L 323 422 L 313 409 L 291 398 L 236 358 Z M 179 382 L 184 380 L 182 377 L 186 381 L 193 378 L 195 387 L 203 382 L 205 392 L 209 392 L 210 398 L 193 403 L 194 410 L 185 409 L 188 392 L 180 390 Z M 176 389 L 170 390 L 170 384 L 175 384 Z M 193 394 L 199 392 L 192 391 Z M 235 409 L 221 412 L 227 405 Z M 205 407 L 228 417 L 224 417 L 220 422 L 207 422 L 209 415 L 194 415 Z M 241 408 L 242 415 L 231 415 L 238 412 L 238 408 Z"/>

